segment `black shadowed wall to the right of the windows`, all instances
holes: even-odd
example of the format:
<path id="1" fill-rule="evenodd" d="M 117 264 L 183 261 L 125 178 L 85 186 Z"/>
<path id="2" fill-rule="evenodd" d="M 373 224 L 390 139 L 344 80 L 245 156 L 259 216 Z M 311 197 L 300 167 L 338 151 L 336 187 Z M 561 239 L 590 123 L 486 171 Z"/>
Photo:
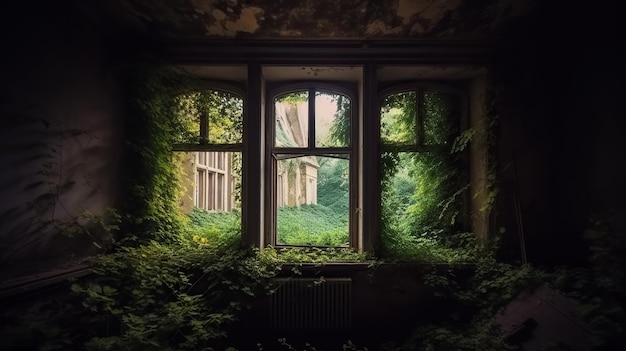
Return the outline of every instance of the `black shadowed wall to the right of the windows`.
<path id="1" fill-rule="evenodd" d="M 496 223 L 512 257 L 521 257 L 516 180 L 531 263 L 585 262 L 592 215 L 626 230 L 624 23 L 616 1 L 552 1 L 503 33 Z"/>

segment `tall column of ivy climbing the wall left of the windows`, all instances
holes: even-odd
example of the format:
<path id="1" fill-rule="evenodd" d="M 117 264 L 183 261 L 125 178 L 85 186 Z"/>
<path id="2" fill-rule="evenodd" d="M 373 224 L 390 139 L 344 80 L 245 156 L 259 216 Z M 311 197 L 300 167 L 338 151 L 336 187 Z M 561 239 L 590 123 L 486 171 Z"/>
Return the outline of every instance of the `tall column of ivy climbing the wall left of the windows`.
<path id="1" fill-rule="evenodd" d="M 171 151 L 181 130 L 177 94 L 189 85 L 182 72 L 161 65 L 131 66 L 121 80 L 127 97 L 124 229 L 143 242 L 171 240 L 183 228 L 178 206 L 180 169 Z"/>

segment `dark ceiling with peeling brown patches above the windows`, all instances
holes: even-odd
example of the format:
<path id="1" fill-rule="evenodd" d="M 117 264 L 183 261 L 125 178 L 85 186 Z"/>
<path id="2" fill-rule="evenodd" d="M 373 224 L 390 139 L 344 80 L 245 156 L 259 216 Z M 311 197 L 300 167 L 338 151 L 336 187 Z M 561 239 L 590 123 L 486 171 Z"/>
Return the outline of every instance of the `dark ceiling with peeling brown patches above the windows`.
<path id="1" fill-rule="evenodd" d="M 94 0 L 84 11 L 159 40 L 480 38 L 533 0 Z"/>

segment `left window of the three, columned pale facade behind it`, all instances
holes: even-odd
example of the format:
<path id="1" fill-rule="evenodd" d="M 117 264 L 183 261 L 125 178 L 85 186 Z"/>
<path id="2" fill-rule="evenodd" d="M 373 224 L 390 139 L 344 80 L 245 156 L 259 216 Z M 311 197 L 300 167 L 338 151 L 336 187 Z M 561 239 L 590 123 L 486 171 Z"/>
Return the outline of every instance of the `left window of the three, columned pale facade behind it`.
<path id="1" fill-rule="evenodd" d="M 232 88 L 197 88 L 180 94 L 175 160 L 180 165 L 181 208 L 232 213 L 241 209 L 243 99 Z"/>

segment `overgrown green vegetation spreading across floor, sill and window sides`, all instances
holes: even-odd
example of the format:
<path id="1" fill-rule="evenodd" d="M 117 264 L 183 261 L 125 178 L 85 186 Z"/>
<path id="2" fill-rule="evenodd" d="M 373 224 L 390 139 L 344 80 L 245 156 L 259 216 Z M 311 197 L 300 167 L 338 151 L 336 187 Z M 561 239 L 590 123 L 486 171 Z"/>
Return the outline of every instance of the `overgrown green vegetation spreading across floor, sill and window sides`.
<path id="1" fill-rule="evenodd" d="M 171 145 L 176 142 L 172 134 L 179 126 L 170 118 L 172 95 L 168 94 L 184 80 L 175 78 L 178 72 L 144 69 L 134 72 L 137 76 L 131 75 L 132 79 L 128 77 L 130 91 L 139 95 L 130 95 L 135 98 L 129 102 L 133 132 L 128 162 L 135 168 L 127 180 L 130 191 L 122 216 L 111 211 L 68 227 L 76 236 L 92 231 L 106 234 L 111 250 L 94 259 L 94 274 L 75 281 L 71 294 L 7 316 L 11 327 L 2 340 L 11 349 L 232 351 L 228 333 L 256 298 L 276 289 L 273 278 L 284 264 L 294 264 L 292 274 L 297 275 L 301 273 L 299 263 L 362 262 L 373 267 L 381 263 L 350 248 L 242 249 L 238 211 L 195 209 L 182 214 L 176 201 L 180 170 L 170 157 Z M 438 134 L 438 124 L 428 123 L 425 135 L 433 145 L 452 145 L 451 138 L 457 133 Z M 457 146 L 463 143 L 456 140 Z M 465 187 L 462 175 L 448 172 L 462 149 L 389 153 L 382 158 L 387 172 L 384 215 L 401 218 L 384 222 L 386 260 L 431 263 L 424 282 L 432 289 L 437 310 L 429 319 L 416 318 L 409 335 L 390 340 L 380 349 L 515 349 L 503 340 L 494 316 L 524 288 L 546 281 L 554 281 L 583 303 L 583 312 L 596 331 L 598 350 L 623 345 L 623 235 L 610 233 L 602 221 L 594 222 L 588 233 L 594 243 L 589 269 L 564 268 L 548 275 L 529 265 L 499 262 L 495 258 L 497 243 L 479 248 L 473 234 L 455 227 L 458 199 Z M 332 172 L 341 174 L 342 170 Z M 447 176 L 437 176 L 441 174 Z M 321 182 L 320 186 L 332 192 L 339 185 Z M 289 216 L 295 209 L 281 209 L 281 217 L 294 225 L 280 230 L 293 236 L 284 240 L 345 243 L 337 228 L 346 223 L 336 222 L 340 220 L 334 215 L 338 209 L 334 206 L 339 205 L 325 197 L 330 198 L 322 191 L 320 205 L 297 209 L 309 213 L 308 222 L 294 225 Z M 319 241 L 312 242 L 310 236 L 300 233 L 301 227 L 314 228 Z M 471 265 L 455 266 L 468 262 Z M 297 346 L 281 338 L 278 347 L 296 350 Z M 263 345 L 252 342 L 248 349 L 261 350 Z M 314 350 L 314 344 L 304 349 Z M 352 342 L 346 342 L 343 349 L 365 350 Z"/>

